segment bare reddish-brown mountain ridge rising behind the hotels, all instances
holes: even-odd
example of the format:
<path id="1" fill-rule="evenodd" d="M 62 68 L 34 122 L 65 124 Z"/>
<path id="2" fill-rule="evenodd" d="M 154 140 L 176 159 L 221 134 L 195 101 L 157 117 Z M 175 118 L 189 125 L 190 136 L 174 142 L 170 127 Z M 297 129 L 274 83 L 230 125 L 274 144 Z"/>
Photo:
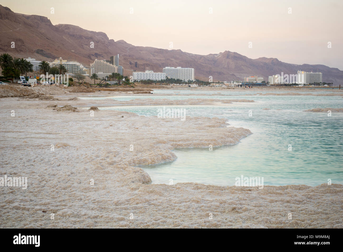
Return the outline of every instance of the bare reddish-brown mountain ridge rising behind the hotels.
<path id="1" fill-rule="evenodd" d="M 334 85 L 343 82 L 343 71 L 325 65 L 289 64 L 275 58 L 250 59 L 237 52 L 196 55 L 181 50 L 134 46 L 124 40 L 109 39 L 103 32 L 93 32 L 70 24 L 52 25 L 44 16 L 14 13 L 0 5 L 0 53 L 12 57 L 31 57 L 51 61 L 55 58 L 76 60 L 86 67 L 94 59 L 109 59 L 119 54 L 119 63 L 125 75 L 132 71 L 153 70 L 162 72 L 166 66 L 191 67 L 197 79 L 214 81 L 243 80 L 258 75 L 268 81 L 273 74 L 296 74 L 298 70 L 323 73 L 324 82 Z M 11 42 L 15 48 L 11 48 Z M 94 48 L 91 48 L 94 42 Z"/>

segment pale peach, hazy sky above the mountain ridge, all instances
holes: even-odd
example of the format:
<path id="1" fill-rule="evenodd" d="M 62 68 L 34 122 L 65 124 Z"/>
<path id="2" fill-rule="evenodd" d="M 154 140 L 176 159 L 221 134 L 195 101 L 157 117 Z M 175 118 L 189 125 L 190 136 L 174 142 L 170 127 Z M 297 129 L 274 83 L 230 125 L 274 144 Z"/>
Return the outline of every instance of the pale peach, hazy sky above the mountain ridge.
<path id="1" fill-rule="evenodd" d="M 238 52 L 343 70 L 342 0 L 1 0 L 135 46 Z M 54 13 L 51 13 L 54 8 Z M 329 48 L 328 48 L 329 47 Z"/>

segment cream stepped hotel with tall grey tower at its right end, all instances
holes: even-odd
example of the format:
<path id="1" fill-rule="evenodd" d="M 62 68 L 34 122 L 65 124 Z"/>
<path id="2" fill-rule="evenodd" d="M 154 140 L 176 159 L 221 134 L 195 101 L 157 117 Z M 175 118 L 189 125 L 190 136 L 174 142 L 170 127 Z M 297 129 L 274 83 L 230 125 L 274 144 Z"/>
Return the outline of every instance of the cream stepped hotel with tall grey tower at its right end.
<path id="1" fill-rule="evenodd" d="M 124 69 L 119 65 L 119 54 L 111 56 L 109 60 L 94 60 L 91 63 L 92 74 L 96 73 L 99 79 L 104 79 L 112 73 L 124 74 Z"/>

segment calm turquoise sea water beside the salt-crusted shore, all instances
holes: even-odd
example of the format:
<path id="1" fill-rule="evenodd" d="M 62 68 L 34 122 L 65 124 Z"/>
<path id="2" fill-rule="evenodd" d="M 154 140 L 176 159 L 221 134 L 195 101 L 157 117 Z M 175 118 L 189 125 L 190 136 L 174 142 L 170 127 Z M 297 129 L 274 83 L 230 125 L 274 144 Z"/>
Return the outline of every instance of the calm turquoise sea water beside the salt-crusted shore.
<path id="1" fill-rule="evenodd" d="M 315 93 L 314 90 L 308 92 Z M 154 96 L 154 99 L 253 99 L 257 102 L 225 106 L 166 106 L 185 108 L 186 120 L 187 116 L 216 116 L 225 118 L 231 126 L 250 129 L 253 134 L 236 145 L 214 147 L 213 151 L 209 151 L 208 147 L 176 149 L 174 153 L 178 158 L 175 161 L 142 167 L 149 173 L 152 183 L 169 184 L 169 180 L 173 179 L 174 184 L 199 182 L 234 185 L 235 178 L 243 175 L 263 177 L 264 185 L 315 186 L 327 183 L 328 179 L 331 179 L 332 183 L 343 184 L 343 113 L 332 112 L 332 116 L 328 117 L 328 113 L 303 112 L 312 108 L 343 108 L 341 96 L 234 94 L 235 96 L 229 97 Z M 157 109 L 162 107 L 113 106 L 99 109 L 125 110 L 144 116 L 156 116 Z M 249 110 L 252 112 L 251 117 Z M 292 145 L 292 151 L 288 150 L 289 145 Z"/>

